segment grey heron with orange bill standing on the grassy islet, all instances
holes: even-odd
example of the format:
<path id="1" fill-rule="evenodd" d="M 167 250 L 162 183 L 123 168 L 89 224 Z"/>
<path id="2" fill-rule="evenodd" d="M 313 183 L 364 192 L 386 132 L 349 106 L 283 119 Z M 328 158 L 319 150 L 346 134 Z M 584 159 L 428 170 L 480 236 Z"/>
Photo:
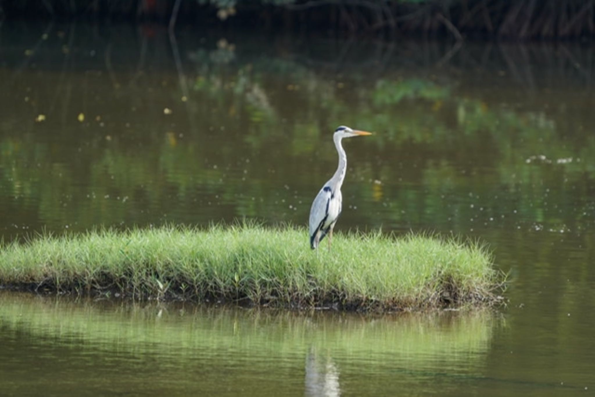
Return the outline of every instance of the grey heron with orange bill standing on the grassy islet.
<path id="1" fill-rule="evenodd" d="M 372 135 L 370 132 L 352 130 L 346 126 L 340 126 L 333 134 L 333 140 L 337 152 L 339 153 L 339 167 L 333 177 L 322 186 L 320 192 L 312 202 L 310 208 L 310 248 L 317 249 L 318 243 L 328 234 L 328 249 L 331 248 L 333 239 L 333 227 L 341 214 L 343 196 L 341 195 L 341 186 L 345 179 L 347 170 L 347 155 L 341 145 L 343 138 L 352 136 Z"/>

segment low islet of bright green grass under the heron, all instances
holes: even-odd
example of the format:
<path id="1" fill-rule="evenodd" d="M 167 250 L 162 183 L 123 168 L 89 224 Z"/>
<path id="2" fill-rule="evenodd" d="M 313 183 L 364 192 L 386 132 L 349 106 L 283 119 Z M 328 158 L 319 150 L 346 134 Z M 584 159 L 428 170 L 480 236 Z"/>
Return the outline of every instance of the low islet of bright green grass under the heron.
<path id="1" fill-rule="evenodd" d="M 257 224 L 40 235 L 0 247 L 0 285 L 36 291 L 293 308 L 416 310 L 491 305 L 487 249 L 440 236 L 307 233 Z"/>

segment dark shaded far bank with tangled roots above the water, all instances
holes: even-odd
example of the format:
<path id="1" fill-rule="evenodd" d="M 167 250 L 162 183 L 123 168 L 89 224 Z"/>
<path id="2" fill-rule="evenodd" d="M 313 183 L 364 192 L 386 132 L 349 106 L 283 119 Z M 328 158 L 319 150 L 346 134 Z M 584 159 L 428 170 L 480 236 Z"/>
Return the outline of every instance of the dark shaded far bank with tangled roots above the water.
<path id="1" fill-rule="evenodd" d="M 595 0 L 0 0 L 0 19 L 150 20 L 368 35 L 590 39 Z"/>

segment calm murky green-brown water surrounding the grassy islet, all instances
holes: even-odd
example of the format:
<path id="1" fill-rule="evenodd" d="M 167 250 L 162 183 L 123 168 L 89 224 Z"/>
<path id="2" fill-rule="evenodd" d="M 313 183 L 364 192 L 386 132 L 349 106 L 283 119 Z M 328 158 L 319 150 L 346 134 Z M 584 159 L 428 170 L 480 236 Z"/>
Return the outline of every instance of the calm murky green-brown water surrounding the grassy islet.
<path id="1" fill-rule="evenodd" d="M 595 51 L 151 26 L 0 26 L 0 236 L 305 224 L 436 230 L 510 271 L 497 313 L 387 317 L 0 294 L 14 395 L 595 390 Z M 304 236 L 304 249 L 308 239 Z"/>

